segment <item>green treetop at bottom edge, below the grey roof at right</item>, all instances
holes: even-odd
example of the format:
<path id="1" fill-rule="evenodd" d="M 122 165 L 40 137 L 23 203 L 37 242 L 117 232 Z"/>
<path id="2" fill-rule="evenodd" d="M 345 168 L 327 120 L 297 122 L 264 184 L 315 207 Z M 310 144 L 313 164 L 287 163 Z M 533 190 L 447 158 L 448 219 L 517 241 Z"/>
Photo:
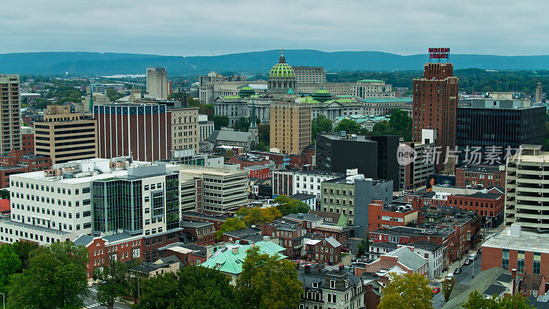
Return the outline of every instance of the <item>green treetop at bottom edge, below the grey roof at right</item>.
<path id="1" fill-rule="evenodd" d="M 502 308 L 502 309 L 528 309 L 533 308 L 530 306 L 528 299 L 522 297 L 520 294 L 505 295 L 504 297 L 497 297 L 493 295 L 491 299 L 486 299 L 477 290 L 473 290 L 469 294 L 469 298 L 465 304 L 461 305 L 465 309 L 484 309 L 484 308 Z"/>

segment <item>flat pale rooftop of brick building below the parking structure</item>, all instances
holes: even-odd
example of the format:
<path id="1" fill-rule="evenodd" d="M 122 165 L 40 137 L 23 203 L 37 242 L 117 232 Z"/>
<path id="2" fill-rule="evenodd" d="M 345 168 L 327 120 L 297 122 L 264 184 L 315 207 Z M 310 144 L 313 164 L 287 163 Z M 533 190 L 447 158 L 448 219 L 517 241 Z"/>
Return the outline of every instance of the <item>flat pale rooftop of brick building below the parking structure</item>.
<path id="1" fill-rule="evenodd" d="M 521 229 L 520 236 L 511 236 L 511 227 L 489 238 L 482 247 L 549 253 L 549 233 Z"/>

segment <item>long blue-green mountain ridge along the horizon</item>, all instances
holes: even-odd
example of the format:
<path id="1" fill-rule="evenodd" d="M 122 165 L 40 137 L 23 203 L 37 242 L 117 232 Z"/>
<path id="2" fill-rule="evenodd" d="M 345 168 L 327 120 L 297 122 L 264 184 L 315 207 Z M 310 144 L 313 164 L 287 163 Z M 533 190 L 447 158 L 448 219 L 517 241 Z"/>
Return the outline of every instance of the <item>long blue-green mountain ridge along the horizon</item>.
<path id="1" fill-rule="evenodd" d="M 94 52 L 36 52 L 0 54 L 0 72 L 59 75 L 143 74 L 146 67 L 166 67 L 169 75 L 202 74 L 209 71 L 268 72 L 277 63 L 279 50 L 222 56 L 159 56 Z M 293 66 L 325 67 L 327 71 L 421 70 L 427 54 L 401 56 L 385 52 L 321 52 L 314 49 L 285 50 Z M 455 69 L 495 70 L 549 69 L 549 55 L 494 56 L 450 54 Z"/>

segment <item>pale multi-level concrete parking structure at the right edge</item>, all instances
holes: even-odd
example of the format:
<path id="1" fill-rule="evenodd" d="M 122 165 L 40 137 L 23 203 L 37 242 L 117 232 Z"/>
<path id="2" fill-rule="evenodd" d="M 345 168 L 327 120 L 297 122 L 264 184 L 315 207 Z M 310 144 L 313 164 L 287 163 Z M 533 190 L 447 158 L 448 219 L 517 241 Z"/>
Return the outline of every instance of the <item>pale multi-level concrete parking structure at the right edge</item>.
<path id="1" fill-rule="evenodd" d="M 522 145 L 506 159 L 505 224 L 524 229 L 549 229 L 549 152 L 541 146 Z"/>

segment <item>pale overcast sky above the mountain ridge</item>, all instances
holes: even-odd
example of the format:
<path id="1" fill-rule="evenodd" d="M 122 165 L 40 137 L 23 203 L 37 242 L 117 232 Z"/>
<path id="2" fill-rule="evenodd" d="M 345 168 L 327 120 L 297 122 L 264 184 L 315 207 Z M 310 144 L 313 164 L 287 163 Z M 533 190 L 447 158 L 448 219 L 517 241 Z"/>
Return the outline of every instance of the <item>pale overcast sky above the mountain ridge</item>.
<path id="1" fill-rule="evenodd" d="M 548 0 L 2 0 L 0 53 L 549 54 Z"/>

